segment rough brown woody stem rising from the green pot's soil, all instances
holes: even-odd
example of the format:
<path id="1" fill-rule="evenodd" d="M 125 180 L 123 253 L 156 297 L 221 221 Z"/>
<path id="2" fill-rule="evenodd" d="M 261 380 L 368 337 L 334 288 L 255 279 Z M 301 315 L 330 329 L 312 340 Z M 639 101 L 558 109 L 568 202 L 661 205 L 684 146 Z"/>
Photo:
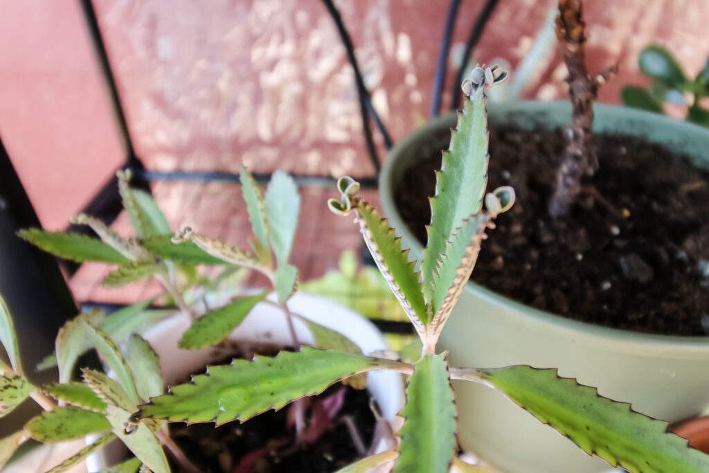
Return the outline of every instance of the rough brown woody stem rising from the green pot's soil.
<path id="1" fill-rule="evenodd" d="M 554 196 L 549 202 L 549 214 L 559 218 L 569 212 L 584 189 L 581 178 L 593 175 L 598 169 L 598 159 L 593 150 L 591 128 L 593 126 L 593 101 L 598 96 L 601 84 L 618 72 L 618 65 L 605 72 L 591 76 L 586 68 L 586 22 L 581 0 L 559 0 L 557 38 L 564 49 L 564 62 L 569 69 L 569 96 L 571 99 L 571 126 L 569 142 L 562 163 L 557 171 Z M 596 194 L 591 190 L 592 194 Z"/>

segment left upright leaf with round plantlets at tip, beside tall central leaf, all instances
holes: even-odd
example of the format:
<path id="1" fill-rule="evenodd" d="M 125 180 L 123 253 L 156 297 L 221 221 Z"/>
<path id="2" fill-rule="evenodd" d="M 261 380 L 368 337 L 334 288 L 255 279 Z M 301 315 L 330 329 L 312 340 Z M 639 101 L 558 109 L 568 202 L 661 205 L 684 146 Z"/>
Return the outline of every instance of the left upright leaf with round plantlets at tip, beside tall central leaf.
<path id="1" fill-rule="evenodd" d="M 423 333 L 425 325 L 430 322 L 430 311 L 423 299 L 415 263 L 408 261 L 409 250 L 401 250 L 401 238 L 394 236 L 393 228 L 389 228 L 386 218 L 381 218 L 374 207 L 357 197 L 351 201 L 357 211 L 354 221 L 359 223 L 364 243 L 367 243 L 376 266 L 418 333 Z"/>

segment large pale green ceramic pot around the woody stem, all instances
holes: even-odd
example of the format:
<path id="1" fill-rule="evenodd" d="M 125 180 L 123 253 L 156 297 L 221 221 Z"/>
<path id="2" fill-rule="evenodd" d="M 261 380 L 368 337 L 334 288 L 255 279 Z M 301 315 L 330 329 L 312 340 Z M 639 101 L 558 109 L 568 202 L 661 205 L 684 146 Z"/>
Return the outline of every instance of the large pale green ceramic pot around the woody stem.
<path id="1" fill-rule="evenodd" d="M 598 104 L 595 111 L 594 130 L 642 136 L 709 168 L 709 130 L 632 108 Z M 566 102 L 521 102 L 490 106 L 489 127 L 512 123 L 557 128 L 570 117 Z M 409 135 L 392 150 L 379 178 L 384 214 L 417 259 L 422 245 L 396 211 L 393 184 L 401 180 L 404 169 L 431 151 L 447 148 L 455 121 L 454 115 L 444 116 Z M 495 238 L 494 231 L 490 238 Z M 696 415 L 709 405 L 709 337 L 647 335 L 572 321 L 477 284 L 469 283 L 463 292 L 442 333 L 440 349 L 450 350 L 450 363 L 458 367 L 556 367 L 564 377 L 597 386 L 603 396 L 630 402 L 636 411 L 668 421 Z M 462 447 L 501 472 L 610 469 L 486 386 L 468 382 L 453 386 Z"/>

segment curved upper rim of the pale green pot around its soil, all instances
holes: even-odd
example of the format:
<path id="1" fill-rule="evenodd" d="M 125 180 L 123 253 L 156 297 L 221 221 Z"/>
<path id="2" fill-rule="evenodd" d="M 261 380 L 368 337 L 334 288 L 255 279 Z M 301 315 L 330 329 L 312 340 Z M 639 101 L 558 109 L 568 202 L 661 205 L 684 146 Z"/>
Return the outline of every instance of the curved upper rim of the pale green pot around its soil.
<path id="1" fill-rule="evenodd" d="M 623 134 L 639 135 L 652 140 L 654 137 L 652 135 L 648 135 L 647 130 L 652 129 L 652 127 L 661 126 L 663 128 L 674 130 L 676 132 L 674 133 L 676 136 L 686 137 L 687 135 L 690 135 L 691 138 L 702 139 L 709 144 L 709 129 L 698 126 L 694 123 L 679 121 L 675 118 L 669 118 L 659 113 L 652 113 L 639 110 L 637 108 L 628 108 L 617 105 L 594 104 L 593 108 L 596 113 L 596 117 L 615 116 L 618 120 L 622 119 L 623 121 L 630 121 L 632 123 L 642 122 L 645 125 L 642 127 L 623 130 L 621 132 Z M 518 111 L 524 111 L 525 113 L 545 113 L 552 110 L 568 110 L 570 113 L 571 104 L 569 104 L 568 101 L 520 101 L 509 104 L 491 104 L 489 108 L 491 118 L 489 118 L 489 121 L 505 121 L 507 119 L 506 115 Z M 387 155 L 387 159 L 381 168 L 381 173 L 379 174 L 379 196 L 385 216 L 389 218 L 390 221 L 394 221 L 395 223 L 402 222 L 401 215 L 398 213 L 396 206 L 393 204 L 393 176 L 400 162 L 406 160 L 407 155 L 403 152 L 403 150 L 406 150 L 420 140 L 422 135 L 431 133 L 434 130 L 440 130 L 445 123 L 450 122 L 453 119 L 454 113 L 455 112 L 451 112 L 447 115 L 428 121 L 425 125 L 417 128 L 412 133 L 409 133 L 406 138 L 397 143 L 396 146 L 389 152 L 389 155 Z M 535 124 L 543 123 L 542 118 L 535 121 Z M 643 133 L 643 131 L 645 133 Z M 676 147 L 679 146 L 680 143 L 684 143 L 685 145 L 689 143 L 690 148 L 684 150 L 684 152 L 687 154 L 698 155 L 699 148 L 691 148 L 691 140 L 688 142 L 686 139 L 682 140 L 681 138 L 678 138 L 676 143 L 669 143 L 668 145 L 672 147 L 674 144 Z M 411 248 L 411 255 L 415 257 L 415 259 L 420 260 L 422 255 L 420 242 L 418 242 L 408 228 L 403 226 L 402 223 L 399 225 L 399 228 L 395 229 L 395 231 L 397 236 L 403 236 L 403 240 L 418 243 L 418 246 L 413 246 Z M 532 323 L 552 325 L 554 328 L 561 328 L 562 330 L 567 330 L 569 332 L 582 332 L 585 337 L 590 336 L 591 338 L 597 338 L 599 343 L 603 343 L 604 340 L 610 342 L 621 341 L 628 344 L 629 350 L 632 350 L 632 346 L 637 345 L 652 345 L 660 350 L 671 350 L 672 352 L 681 352 L 684 350 L 687 352 L 696 352 L 698 349 L 709 350 L 709 336 L 637 333 L 630 330 L 609 328 L 601 325 L 593 325 L 587 322 L 575 321 L 571 318 L 565 318 L 551 312 L 541 311 L 540 309 L 533 308 L 525 304 L 520 304 L 507 296 L 491 291 L 491 289 L 486 289 L 484 286 L 474 282 L 468 282 L 466 284 L 465 291 L 470 292 L 480 299 L 484 299 L 498 308 L 518 313 L 520 317 Z"/>

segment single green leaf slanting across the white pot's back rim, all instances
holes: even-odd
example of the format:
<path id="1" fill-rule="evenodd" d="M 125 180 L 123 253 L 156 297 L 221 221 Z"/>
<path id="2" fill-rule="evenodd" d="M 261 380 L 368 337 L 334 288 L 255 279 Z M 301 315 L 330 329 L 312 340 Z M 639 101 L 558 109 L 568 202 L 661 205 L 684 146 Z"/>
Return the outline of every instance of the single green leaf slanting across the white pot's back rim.
<path id="1" fill-rule="evenodd" d="M 179 340 L 180 348 L 204 348 L 216 345 L 229 336 L 246 318 L 251 309 L 263 301 L 267 292 L 257 296 L 247 296 L 236 299 L 192 322 L 192 325 Z"/>

